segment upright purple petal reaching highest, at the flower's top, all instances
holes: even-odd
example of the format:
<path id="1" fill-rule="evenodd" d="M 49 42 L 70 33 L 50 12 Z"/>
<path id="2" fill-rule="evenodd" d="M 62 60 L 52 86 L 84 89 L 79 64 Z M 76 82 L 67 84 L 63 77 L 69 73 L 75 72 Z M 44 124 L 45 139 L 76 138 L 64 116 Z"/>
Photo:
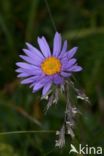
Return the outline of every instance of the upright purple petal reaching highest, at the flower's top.
<path id="1" fill-rule="evenodd" d="M 57 57 L 60 54 L 61 43 L 62 43 L 61 35 L 58 32 L 56 32 L 53 43 L 53 56 Z"/>

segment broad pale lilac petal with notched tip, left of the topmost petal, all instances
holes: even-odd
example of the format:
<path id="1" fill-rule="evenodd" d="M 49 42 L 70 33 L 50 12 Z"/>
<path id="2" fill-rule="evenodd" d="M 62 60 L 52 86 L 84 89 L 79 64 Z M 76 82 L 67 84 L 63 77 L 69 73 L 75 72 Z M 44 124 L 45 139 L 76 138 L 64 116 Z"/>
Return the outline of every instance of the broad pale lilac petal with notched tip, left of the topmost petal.
<path id="1" fill-rule="evenodd" d="M 40 47 L 43 55 L 45 57 L 49 57 L 51 55 L 51 52 L 50 52 L 50 48 L 49 48 L 49 45 L 48 45 L 46 39 L 44 37 L 42 37 L 42 38 L 38 37 L 38 44 L 39 44 L 39 47 Z"/>

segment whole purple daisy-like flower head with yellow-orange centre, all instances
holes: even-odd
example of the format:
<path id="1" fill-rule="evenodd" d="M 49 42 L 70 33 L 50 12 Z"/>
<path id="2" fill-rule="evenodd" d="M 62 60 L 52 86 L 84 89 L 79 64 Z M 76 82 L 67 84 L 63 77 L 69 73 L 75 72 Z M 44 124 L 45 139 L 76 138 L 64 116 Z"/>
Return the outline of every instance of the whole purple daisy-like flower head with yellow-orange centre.
<path id="1" fill-rule="evenodd" d="M 18 62 L 18 77 L 23 78 L 21 84 L 29 84 L 33 87 L 33 92 L 43 88 L 42 95 L 45 96 L 53 84 L 64 84 L 64 80 L 72 75 L 73 72 L 82 70 L 77 65 L 77 60 L 73 58 L 77 47 L 67 50 L 67 41 L 62 45 L 61 35 L 56 32 L 53 41 L 53 52 L 45 39 L 37 39 L 39 48 L 35 48 L 26 43 L 27 49 L 23 49 L 26 55 L 20 55 L 25 62 Z"/>

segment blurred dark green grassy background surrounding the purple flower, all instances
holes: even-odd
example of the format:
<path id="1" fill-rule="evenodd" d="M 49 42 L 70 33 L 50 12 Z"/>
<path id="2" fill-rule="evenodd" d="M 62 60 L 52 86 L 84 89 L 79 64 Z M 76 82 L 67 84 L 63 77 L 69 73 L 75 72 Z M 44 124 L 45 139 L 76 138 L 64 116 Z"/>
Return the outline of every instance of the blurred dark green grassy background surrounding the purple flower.
<path id="1" fill-rule="evenodd" d="M 55 133 L 0 134 L 0 156 L 69 155 L 70 143 L 104 147 L 104 0 L 48 0 L 56 28 L 78 46 L 83 72 L 75 75 L 91 105 L 78 101 L 76 138 L 56 149 Z M 64 117 L 60 101 L 45 114 L 46 101 L 16 78 L 15 63 L 25 42 L 36 45 L 45 35 L 52 45 L 54 29 L 44 0 L 0 0 L 0 132 L 57 130 Z M 36 120 L 41 122 L 41 127 Z"/>

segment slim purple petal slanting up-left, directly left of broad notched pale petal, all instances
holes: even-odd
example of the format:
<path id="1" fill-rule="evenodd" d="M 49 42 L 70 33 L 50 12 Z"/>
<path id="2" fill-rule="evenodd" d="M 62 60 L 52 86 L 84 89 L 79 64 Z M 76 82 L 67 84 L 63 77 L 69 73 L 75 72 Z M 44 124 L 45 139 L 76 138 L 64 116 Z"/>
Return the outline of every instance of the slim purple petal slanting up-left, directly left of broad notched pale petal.
<path id="1" fill-rule="evenodd" d="M 44 59 L 44 56 L 41 54 L 41 52 L 40 52 L 37 48 L 33 47 L 33 46 L 32 46 L 31 44 L 29 44 L 29 43 L 26 43 L 26 45 L 27 45 L 28 49 L 29 49 L 31 52 L 33 52 L 35 55 L 37 55 L 37 56 L 40 57 L 41 59 Z"/>

